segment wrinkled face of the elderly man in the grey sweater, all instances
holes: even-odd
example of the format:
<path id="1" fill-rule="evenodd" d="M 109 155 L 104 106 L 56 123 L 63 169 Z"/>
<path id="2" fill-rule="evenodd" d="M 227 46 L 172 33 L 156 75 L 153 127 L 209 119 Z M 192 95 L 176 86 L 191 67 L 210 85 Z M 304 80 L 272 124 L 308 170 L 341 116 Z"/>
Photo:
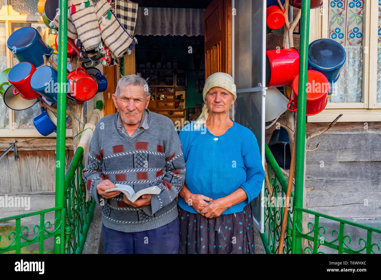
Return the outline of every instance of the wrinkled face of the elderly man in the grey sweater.
<path id="1" fill-rule="evenodd" d="M 112 94 L 115 107 L 118 109 L 122 121 L 127 125 L 140 123 L 144 109 L 147 109 L 150 95 L 141 85 L 129 84 L 119 88 L 118 96 Z"/>

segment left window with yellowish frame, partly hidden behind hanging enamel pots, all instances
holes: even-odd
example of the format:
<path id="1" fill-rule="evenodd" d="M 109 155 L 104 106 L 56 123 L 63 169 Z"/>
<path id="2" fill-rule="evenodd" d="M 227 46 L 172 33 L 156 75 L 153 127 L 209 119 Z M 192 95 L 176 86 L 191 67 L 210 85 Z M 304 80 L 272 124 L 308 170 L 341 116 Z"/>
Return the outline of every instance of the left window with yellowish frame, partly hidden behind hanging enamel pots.
<path id="1" fill-rule="evenodd" d="M 42 16 L 38 13 L 37 2 L 38 0 L 5 0 L 5 2 L 0 0 L 0 72 L 19 63 L 6 46 L 7 38 L 12 32 L 30 26 L 37 29 L 43 39 L 46 39 L 49 28 L 45 26 Z M 58 56 L 53 54 L 52 59 L 57 64 Z M 85 122 L 86 103 L 84 103 Z M 25 110 L 11 110 L 0 98 L 0 135 L 2 137 L 41 136 L 33 124 L 33 118 L 38 114 L 40 114 L 38 103 Z M 72 136 L 70 116 L 66 118 L 66 136 Z"/>

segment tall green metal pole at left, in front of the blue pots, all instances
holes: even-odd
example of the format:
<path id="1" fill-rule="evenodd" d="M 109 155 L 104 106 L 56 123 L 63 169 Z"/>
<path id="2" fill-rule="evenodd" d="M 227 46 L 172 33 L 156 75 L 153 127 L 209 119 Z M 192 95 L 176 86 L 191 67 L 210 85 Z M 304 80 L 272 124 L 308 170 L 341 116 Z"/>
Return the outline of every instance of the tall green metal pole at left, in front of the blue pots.
<path id="1" fill-rule="evenodd" d="M 66 139 L 66 75 L 67 75 L 67 0 L 59 0 L 58 30 L 58 99 L 57 99 L 57 142 L 56 142 L 56 205 L 64 206 L 65 190 L 65 139 Z M 60 236 L 54 240 L 54 253 L 64 253 L 64 228 L 61 209 L 55 212 L 55 219 L 61 220 Z"/>

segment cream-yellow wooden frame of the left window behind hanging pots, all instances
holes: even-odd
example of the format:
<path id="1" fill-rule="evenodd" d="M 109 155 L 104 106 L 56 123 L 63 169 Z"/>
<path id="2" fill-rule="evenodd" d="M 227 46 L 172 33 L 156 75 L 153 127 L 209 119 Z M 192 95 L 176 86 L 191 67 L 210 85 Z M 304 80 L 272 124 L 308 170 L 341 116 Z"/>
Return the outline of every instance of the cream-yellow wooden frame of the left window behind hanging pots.
<path id="1" fill-rule="evenodd" d="M 4 5 L 0 10 L 0 22 L 5 22 L 5 38 L 9 38 L 11 23 L 12 22 L 36 22 L 42 23 L 43 19 L 41 15 L 26 15 L 20 14 L 13 10 L 12 5 L 10 5 L 10 0 L 3 0 Z M 11 51 L 6 48 L 6 67 L 11 67 L 12 54 Z M 86 101 L 87 102 L 87 101 Z M 87 104 L 89 105 L 89 104 Z M 42 136 L 36 128 L 30 129 L 13 129 L 12 123 L 14 123 L 14 110 L 7 107 L 9 112 L 9 128 L 0 129 L 1 137 L 45 137 L 45 138 L 56 138 L 57 134 L 55 132 L 51 133 L 48 136 Z M 72 129 L 66 129 L 66 137 L 72 138 L 73 131 Z"/>

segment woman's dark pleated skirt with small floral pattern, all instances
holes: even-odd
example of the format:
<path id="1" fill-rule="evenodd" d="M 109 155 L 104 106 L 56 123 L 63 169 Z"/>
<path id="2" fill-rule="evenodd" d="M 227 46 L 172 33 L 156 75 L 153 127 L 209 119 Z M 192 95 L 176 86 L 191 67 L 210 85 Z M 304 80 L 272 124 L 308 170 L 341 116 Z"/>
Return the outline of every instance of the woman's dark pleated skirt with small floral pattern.
<path id="1" fill-rule="evenodd" d="M 179 208 L 179 254 L 254 254 L 250 203 L 239 213 L 206 218 Z"/>

